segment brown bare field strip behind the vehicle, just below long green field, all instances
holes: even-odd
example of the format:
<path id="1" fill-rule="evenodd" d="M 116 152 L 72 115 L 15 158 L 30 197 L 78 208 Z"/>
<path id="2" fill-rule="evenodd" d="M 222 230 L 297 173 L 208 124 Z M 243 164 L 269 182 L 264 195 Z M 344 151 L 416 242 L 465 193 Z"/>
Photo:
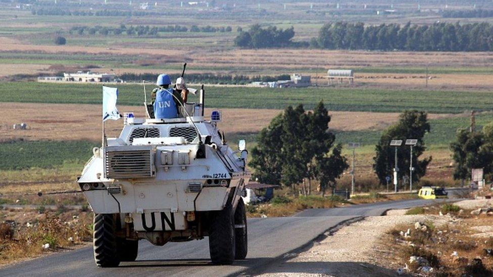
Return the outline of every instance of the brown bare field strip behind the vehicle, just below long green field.
<path id="1" fill-rule="evenodd" d="M 144 117 L 141 106 L 118 106 L 120 113 L 134 112 Z M 27 140 L 101 140 L 101 105 L 51 104 L 51 103 L 0 103 L 3 117 L 0 119 L 1 140 L 22 137 Z M 209 115 L 212 109 L 206 109 Z M 226 134 L 257 133 L 266 127 L 272 118 L 281 113 L 277 109 L 223 108 L 223 121 L 219 127 Z M 329 127 L 334 130 L 359 131 L 383 130 L 397 122 L 397 113 L 329 112 L 332 116 Z M 61 118 L 63 115 L 63 119 Z M 429 119 L 465 115 L 431 114 Z M 28 130 L 14 130 L 13 124 L 25 122 Z M 107 135 L 118 136 L 122 121 L 108 121 Z"/>

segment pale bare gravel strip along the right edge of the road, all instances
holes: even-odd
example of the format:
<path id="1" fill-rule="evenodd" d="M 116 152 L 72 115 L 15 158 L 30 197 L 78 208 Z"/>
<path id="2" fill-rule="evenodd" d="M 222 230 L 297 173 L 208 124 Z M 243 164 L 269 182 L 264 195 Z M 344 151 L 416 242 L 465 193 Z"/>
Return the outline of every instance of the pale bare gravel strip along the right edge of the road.
<path id="1" fill-rule="evenodd" d="M 369 216 L 341 228 L 310 249 L 280 264 L 267 268 L 262 277 L 277 276 L 394 276 L 402 265 L 382 260 L 386 251 L 379 239 L 396 225 L 433 220 L 438 225 L 445 217 L 404 215 L 404 210 L 393 210 L 387 216 Z"/>

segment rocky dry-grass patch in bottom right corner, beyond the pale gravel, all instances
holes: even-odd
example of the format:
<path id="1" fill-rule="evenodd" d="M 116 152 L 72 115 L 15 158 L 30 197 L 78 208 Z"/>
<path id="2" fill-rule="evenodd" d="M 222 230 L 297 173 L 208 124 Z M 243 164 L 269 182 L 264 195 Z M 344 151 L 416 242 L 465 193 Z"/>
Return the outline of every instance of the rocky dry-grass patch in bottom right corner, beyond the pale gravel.
<path id="1" fill-rule="evenodd" d="M 416 224 L 398 225 L 387 232 L 382 244 L 386 259 L 399 264 L 412 274 L 432 276 L 486 276 L 493 274 L 493 238 L 476 236 L 484 225 L 493 224 L 493 216 L 471 215 L 457 205 L 443 204 L 408 210 L 410 213 L 437 214 Z M 436 225 L 437 219 L 446 220 Z M 436 225 L 436 226 L 435 226 Z M 493 253 L 493 252 L 492 252 Z M 412 258 L 415 256 L 415 258 Z M 417 257 L 417 258 L 416 258 Z M 420 258 L 424 258 L 421 260 Z M 416 260 L 417 259 L 417 260 Z M 433 269 L 429 271 L 430 266 Z M 426 271 L 426 272 L 425 272 Z"/>

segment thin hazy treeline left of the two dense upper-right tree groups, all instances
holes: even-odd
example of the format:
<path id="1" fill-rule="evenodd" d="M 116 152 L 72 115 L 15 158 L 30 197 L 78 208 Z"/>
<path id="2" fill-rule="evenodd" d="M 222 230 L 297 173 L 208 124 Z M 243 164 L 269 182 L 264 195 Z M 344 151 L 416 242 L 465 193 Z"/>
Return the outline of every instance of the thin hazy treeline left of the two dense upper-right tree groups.
<path id="1" fill-rule="evenodd" d="M 143 25 L 137 25 L 137 26 L 125 26 L 125 25 L 120 25 L 118 28 L 108 28 L 108 27 L 103 27 L 103 26 L 94 26 L 94 27 L 89 27 L 89 26 L 75 26 L 70 28 L 69 33 L 70 34 L 77 34 L 77 35 L 94 35 L 96 33 L 100 35 L 108 35 L 108 34 L 114 34 L 114 35 L 121 35 L 121 34 L 126 34 L 126 35 L 152 35 L 155 36 L 159 32 L 231 32 L 233 29 L 231 26 L 226 26 L 226 27 L 213 27 L 210 25 L 199 27 L 197 25 L 192 25 L 190 29 L 188 29 L 186 26 L 180 26 L 180 25 L 168 25 L 164 27 L 152 27 L 149 25 L 143 26 Z"/>

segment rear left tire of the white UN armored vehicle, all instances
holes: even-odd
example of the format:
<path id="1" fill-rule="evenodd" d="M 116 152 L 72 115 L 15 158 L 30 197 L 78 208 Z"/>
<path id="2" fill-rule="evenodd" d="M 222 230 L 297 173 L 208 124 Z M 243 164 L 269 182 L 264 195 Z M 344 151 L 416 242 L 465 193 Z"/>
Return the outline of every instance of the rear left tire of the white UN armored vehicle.
<path id="1" fill-rule="evenodd" d="M 115 267 L 120 264 L 117 254 L 116 220 L 114 214 L 94 214 L 93 249 L 98 267 Z"/>

